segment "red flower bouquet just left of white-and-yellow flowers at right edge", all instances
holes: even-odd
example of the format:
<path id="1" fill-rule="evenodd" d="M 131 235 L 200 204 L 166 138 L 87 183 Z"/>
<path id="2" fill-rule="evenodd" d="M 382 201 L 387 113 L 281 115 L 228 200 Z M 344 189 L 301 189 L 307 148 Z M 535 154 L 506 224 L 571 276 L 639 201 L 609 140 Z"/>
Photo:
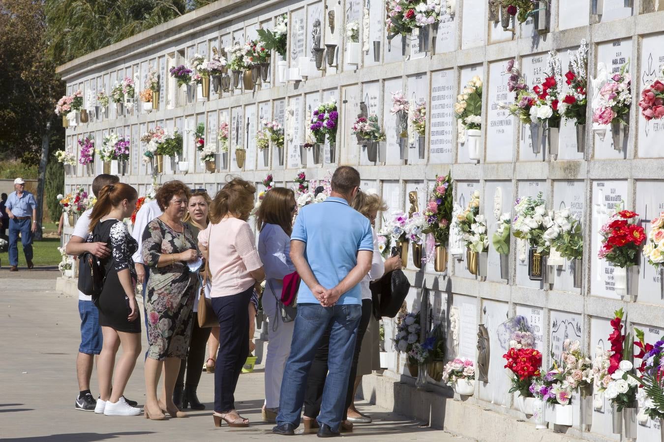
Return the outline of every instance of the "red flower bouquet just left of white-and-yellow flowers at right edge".
<path id="1" fill-rule="evenodd" d="M 645 242 L 643 227 L 636 225 L 639 214 L 620 210 L 602 226 L 602 247 L 598 256 L 616 267 L 625 268 L 636 264 L 639 247 Z"/>

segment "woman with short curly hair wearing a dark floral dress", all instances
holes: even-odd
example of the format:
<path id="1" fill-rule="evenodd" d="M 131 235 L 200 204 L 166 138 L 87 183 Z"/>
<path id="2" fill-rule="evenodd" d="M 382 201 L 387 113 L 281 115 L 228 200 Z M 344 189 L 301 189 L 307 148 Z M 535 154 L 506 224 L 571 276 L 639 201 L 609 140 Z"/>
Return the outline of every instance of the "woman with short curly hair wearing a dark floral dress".
<path id="1" fill-rule="evenodd" d="M 145 414 L 150 419 L 186 417 L 173 403 L 173 388 L 180 362 L 187 357 L 198 268 L 201 258 L 197 240 L 182 222 L 187 211 L 189 188 L 180 181 L 167 182 L 156 199 L 163 215 L 143 231 L 143 263 L 150 267 L 145 297 L 147 341 L 145 360 Z M 165 396 L 157 401 L 161 363 Z"/>

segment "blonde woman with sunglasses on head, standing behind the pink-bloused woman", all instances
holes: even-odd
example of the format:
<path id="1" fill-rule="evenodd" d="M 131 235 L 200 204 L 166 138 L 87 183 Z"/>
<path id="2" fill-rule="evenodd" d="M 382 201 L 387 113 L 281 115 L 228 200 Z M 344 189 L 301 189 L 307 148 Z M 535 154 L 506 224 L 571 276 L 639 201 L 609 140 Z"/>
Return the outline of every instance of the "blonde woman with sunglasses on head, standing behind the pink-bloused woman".
<path id="1" fill-rule="evenodd" d="M 185 225 L 189 227 L 194 238 L 198 238 L 199 232 L 207 229 L 208 226 L 208 209 L 210 208 L 212 200 L 208 196 L 205 189 L 194 189 L 191 191 L 189 203 L 187 204 L 187 213 L 185 214 Z M 205 272 L 205 265 L 201 266 L 201 274 Z M 201 280 L 203 284 L 203 280 Z M 191 406 L 192 410 L 205 410 L 205 405 L 201 404 L 196 394 L 201 380 L 201 366 L 205 360 L 205 345 L 210 336 L 210 328 L 199 327 L 197 317 L 198 304 L 199 304 L 200 285 L 196 290 L 196 297 L 194 299 L 194 315 L 191 325 L 191 340 L 189 341 L 189 351 L 187 352 L 187 359 L 183 359 L 180 363 L 180 372 L 177 375 L 175 382 L 175 390 L 173 390 L 173 403 L 177 408 L 185 409 Z M 210 282 L 208 280 L 205 288 L 205 296 L 210 296 Z M 214 327 L 218 328 L 218 327 Z M 217 331 L 218 334 L 218 331 Z M 187 380 L 185 381 L 185 372 L 187 373 Z"/>

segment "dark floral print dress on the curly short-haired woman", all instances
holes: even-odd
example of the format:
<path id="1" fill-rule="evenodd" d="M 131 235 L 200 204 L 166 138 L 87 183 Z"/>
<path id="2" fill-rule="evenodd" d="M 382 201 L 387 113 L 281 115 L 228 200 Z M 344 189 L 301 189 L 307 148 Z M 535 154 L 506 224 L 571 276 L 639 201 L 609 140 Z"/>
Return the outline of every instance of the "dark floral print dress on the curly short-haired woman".
<path id="1" fill-rule="evenodd" d="M 198 250 L 197 241 L 187 225 L 183 233 L 171 229 L 159 218 L 143 231 L 143 263 L 150 267 L 145 296 L 147 315 L 147 357 L 185 359 L 193 321 L 198 272 L 185 262 L 157 267 L 161 254 Z"/>

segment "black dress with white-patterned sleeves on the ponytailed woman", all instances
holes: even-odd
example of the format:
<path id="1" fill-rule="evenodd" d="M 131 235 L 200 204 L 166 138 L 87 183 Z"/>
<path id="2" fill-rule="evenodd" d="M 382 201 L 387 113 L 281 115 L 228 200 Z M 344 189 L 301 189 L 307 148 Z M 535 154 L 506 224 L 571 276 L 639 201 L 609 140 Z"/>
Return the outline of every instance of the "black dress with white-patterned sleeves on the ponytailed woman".
<path id="1" fill-rule="evenodd" d="M 138 249 L 138 243 L 129 235 L 125 224 L 117 219 L 106 219 L 97 223 L 94 231 L 88 235 L 88 243 L 92 243 L 95 237 L 96 241 L 107 243 L 112 250 L 111 255 L 102 260 L 106 280 L 97 302 L 99 325 L 125 333 L 141 333 L 140 313 L 133 321 L 127 320 L 131 307 L 129 307 L 129 298 L 118 279 L 118 272 L 129 270 L 131 286 L 135 291 L 137 278 L 131 256 Z"/>

